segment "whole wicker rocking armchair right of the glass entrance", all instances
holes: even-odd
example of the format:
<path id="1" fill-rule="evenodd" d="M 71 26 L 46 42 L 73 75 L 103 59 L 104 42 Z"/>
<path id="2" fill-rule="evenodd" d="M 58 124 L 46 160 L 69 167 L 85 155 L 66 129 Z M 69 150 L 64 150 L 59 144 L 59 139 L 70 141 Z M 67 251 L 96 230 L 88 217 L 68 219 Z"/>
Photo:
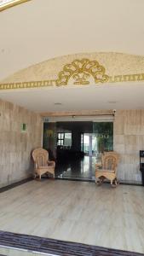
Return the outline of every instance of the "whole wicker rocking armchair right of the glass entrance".
<path id="1" fill-rule="evenodd" d="M 95 165 L 95 183 L 101 184 L 107 178 L 112 186 L 117 186 L 118 154 L 116 152 L 104 152 L 101 156 L 101 165 Z M 114 185 L 113 185 L 114 182 Z"/>

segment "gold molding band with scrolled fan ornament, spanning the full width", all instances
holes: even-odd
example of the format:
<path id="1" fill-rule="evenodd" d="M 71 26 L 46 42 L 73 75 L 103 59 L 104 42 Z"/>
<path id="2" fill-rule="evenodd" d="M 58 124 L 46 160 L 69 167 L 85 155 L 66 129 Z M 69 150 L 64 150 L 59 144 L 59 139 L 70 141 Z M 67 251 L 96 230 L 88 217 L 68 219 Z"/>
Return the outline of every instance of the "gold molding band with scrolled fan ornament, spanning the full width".
<path id="1" fill-rule="evenodd" d="M 74 60 L 58 73 L 58 79 L 0 84 L 0 90 L 144 81 L 144 73 L 108 76 L 98 61 Z"/>

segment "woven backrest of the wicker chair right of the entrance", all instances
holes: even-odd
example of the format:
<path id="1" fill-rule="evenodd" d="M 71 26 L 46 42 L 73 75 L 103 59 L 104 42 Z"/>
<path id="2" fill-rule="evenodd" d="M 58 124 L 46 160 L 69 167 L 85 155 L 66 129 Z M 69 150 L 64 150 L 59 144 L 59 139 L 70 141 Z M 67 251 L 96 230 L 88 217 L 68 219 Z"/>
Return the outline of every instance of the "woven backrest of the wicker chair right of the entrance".
<path id="1" fill-rule="evenodd" d="M 111 171 L 116 172 L 117 166 L 118 166 L 118 154 L 116 152 L 105 152 L 102 154 L 102 168 Z"/>

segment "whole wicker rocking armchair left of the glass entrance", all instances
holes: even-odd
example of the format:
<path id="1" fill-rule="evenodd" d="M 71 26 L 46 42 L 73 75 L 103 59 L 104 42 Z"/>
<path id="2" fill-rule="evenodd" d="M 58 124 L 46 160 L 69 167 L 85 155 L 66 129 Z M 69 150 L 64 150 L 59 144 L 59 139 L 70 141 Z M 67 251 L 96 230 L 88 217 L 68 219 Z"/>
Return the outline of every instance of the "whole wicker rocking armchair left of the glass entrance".
<path id="1" fill-rule="evenodd" d="M 55 177 L 55 161 L 49 161 L 49 153 L 43 148 L 36 148 L 32 152 L 34 160 L 34 173 L 35 177 L 39 177 L 46 173 L 51 173 Z"/>

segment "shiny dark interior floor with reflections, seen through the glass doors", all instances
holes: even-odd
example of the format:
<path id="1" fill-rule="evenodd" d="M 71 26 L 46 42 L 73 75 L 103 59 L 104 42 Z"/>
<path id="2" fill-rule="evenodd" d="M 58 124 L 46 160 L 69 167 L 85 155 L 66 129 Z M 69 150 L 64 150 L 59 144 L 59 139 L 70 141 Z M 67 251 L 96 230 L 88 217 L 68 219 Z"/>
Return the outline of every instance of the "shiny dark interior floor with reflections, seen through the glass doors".
<path id="1" fill-rule="evenodd" d="M 95 157 L 86 155 L 84 158 L 59 160 L 55 168 L 55 177 L 94 179 L 95 162 Z"/>

